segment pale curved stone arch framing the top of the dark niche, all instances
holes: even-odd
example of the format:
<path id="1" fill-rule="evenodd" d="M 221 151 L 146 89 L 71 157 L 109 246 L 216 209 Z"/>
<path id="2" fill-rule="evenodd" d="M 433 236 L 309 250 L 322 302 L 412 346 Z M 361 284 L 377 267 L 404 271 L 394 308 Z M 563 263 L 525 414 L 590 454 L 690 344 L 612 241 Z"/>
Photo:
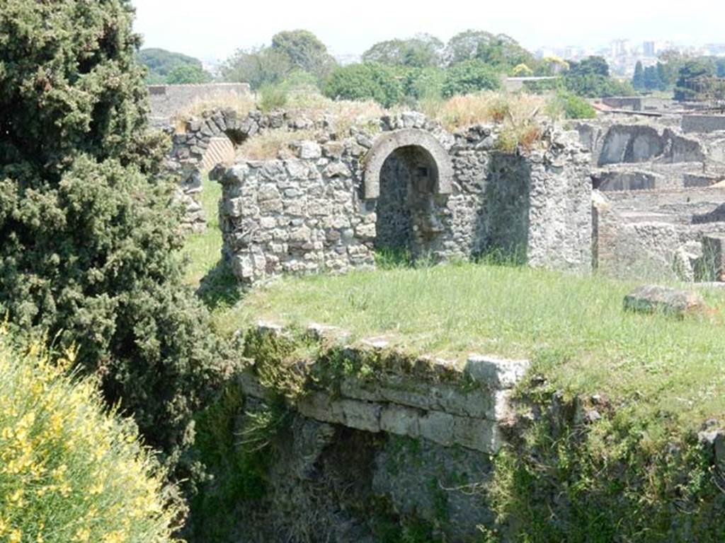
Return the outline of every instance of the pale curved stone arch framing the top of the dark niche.
<path id="1" fill-rule="evenodd" d="M 431 177 L 434 178 L 434 193 L 451 193 L 453 167 L 445 148 L 430 132 L 406 128 L 380 135 L 368 152 L 364 177 L 366 199 L 378 198 L 381 169 L 386 159 L 400 148 L 415 148 L 421 155 L 428 157 L 428 162 L 433 165 Z"/>

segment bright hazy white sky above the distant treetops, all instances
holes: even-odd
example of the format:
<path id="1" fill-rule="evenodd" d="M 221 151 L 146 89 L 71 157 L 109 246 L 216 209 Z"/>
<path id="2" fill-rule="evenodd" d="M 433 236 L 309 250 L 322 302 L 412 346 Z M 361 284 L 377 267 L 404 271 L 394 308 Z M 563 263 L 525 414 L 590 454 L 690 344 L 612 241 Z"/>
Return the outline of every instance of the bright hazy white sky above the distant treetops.
<path id="1" fill-rule="evenodd" d="M 614 38 L 725 42 L 725 0 L 132 0 L 144 46 L 202 59 L 268 44 L 306 28 L 333 54 L 431 33 L 446 41 L 468 28 L 506 33 L 528 49 L 603 46 Z M 431 6 L 431 7 L 426 7 Z"/>

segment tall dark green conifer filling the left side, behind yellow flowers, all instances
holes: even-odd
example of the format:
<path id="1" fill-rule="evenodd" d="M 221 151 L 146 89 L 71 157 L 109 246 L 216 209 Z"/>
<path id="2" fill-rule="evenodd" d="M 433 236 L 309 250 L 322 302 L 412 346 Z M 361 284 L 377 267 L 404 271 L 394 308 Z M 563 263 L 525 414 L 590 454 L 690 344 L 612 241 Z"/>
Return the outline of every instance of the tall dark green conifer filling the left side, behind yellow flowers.
<path id="1" fill-rule="evenodd" d="M 128 0 L 3 4 L 0 314 L 78 345 L 108 402 L 176 466 L 224 354 L 183 285 L 132 13 Z"/>

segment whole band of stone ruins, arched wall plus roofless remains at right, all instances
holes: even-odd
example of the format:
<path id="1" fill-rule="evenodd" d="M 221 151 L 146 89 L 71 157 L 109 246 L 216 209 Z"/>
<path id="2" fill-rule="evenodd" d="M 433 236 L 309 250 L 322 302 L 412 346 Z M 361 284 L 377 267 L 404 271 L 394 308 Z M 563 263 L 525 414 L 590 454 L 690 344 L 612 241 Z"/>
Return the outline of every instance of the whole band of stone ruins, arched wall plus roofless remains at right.
<path id="1" fill-rule="evenodd" d="M 605 117 L 505 152 L 496 125 L 448 132 L 415 112 L 338 130 L 329 115 L 218 109 L 173 133 L 169 163 L 196 232 L 202 173 L 221 164 L 223 256 L 247 284 L 370 267 L 381 250 L 713 281 L 725 277 L 718 122 Z M 276 130 L 300 132 L 289 153 L 238 156 Z"/>

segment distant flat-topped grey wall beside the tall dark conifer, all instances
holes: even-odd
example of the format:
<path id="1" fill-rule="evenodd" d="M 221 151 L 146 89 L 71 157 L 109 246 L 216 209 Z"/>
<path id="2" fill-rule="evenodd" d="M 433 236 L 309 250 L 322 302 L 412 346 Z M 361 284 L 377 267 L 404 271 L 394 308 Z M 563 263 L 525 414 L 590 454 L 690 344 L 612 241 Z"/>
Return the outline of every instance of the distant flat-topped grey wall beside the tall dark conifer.
<path id="1" fill-rule="evenodd" d="M 149 85 L 151 120 L 166 125 L 171 117 L 181 113 L 196 101 L 213 101 L 230 96 L 252 96 L 247 83 L 203 83 L 190 85 Z"/>

